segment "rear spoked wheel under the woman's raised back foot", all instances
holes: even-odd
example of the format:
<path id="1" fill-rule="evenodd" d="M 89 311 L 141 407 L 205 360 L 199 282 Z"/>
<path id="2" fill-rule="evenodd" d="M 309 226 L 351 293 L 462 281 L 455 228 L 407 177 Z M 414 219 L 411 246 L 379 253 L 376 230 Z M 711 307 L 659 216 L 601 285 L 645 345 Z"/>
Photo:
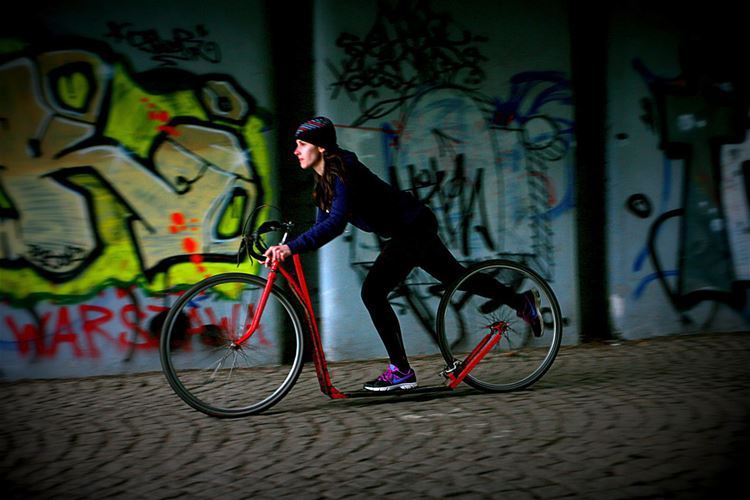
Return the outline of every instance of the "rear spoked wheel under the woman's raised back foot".
<path id="1" fill-rule="evenodd" d="M 488 279 L 509 286 L 516 293 L 538 291 L 541 336 L 534 336 L 529 324 L 510 305 L 486 296 Z M 473 286 L 477 282 L 485 286 Z M 562 339 L 562 313 L 552 288 L 539 274 L 525 265 L 502 259 L 469 268 L 443 295 L 438 307 L 437 334 L 448 367 L 461 367 L 474 347 L 499 325 L 503 330 L 500 341 L 464 381 L 485 391 L 528 387 L 544 375 L 557 356 Z"/>

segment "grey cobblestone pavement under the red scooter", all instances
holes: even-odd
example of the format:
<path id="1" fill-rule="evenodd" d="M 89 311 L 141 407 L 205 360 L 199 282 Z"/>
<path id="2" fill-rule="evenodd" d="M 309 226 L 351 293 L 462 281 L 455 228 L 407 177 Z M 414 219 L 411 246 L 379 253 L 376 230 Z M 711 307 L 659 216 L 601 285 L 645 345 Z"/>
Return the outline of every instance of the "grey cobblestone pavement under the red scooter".
<path id="1" fill-rule="evenodd" d="M 744 490 L 734 488 L 750 444 L 749 361 L 745 333 L 573 346 L 532 390 L 338 401 L 318 391 L 309 363 L 279 405 L 234 420 L 192 410 L 161 373 L 3 383 L 0 491 L 722 498 Z M 415 360 L 421 382 L 436 363 Z M 337 363 L 333 380 L 351 389 L 343 381 L 360 383 L 382 366 Z"/>

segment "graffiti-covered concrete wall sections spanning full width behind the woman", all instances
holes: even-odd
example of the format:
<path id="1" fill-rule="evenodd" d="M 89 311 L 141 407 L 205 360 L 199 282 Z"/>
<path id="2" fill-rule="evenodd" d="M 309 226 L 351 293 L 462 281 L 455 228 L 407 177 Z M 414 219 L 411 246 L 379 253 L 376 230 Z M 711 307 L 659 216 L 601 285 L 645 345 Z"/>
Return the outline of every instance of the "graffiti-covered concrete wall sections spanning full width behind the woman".
<path id="1" fill-rule="evenodd" d="M 319 0 L 311 92 L 342 146 L 435 209 L 460 260 L 546 276 L 576 343 L 567 5 Z M 0 376 L 159 369 L 176 289 L 234 269 L 238 214 L 282 199 L 264 2 L 49 2 L 5 21 Z M 682 21 L 631 2 L 610 26 L 602 210 L 626 338 L 747 328 L 744 124 L 736 103 L 704 116 L 705 102 L 674 98 Z M 318 254 L 331 359 L 385 356 L 359 299 L 377 246 L 350 228 Z M 412 355 L 435 351 L 430 283 L 415 272 L 393 298 Z"/>

